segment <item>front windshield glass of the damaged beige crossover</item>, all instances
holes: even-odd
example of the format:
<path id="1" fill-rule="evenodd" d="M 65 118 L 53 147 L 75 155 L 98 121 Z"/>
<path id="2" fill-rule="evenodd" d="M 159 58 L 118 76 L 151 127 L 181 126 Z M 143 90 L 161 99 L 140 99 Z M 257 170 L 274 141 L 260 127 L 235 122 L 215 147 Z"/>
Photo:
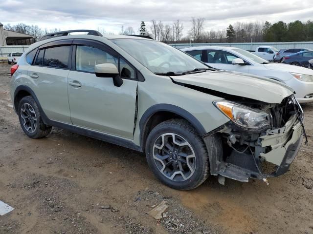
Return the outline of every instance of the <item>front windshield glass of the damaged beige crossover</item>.
<path id="1" fill-rule="evenodd" d="M 184 52 L 155 40 L 114 39 L 112 41 L 153 73 L 185 72 L 208 68 Z"/>

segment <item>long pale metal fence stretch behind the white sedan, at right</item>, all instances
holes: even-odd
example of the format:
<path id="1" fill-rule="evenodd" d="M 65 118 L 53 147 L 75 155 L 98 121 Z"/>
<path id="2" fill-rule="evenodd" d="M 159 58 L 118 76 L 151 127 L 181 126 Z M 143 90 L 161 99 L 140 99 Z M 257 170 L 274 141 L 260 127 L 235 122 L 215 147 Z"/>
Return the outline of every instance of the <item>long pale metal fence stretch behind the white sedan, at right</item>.
<path id="1" fill-rule="evenodd" d="M 255 51 L 256 47 L 261 45 L 270 45 L 274 46 L 277 49 L 285 48 L 307 48 L 313 50 L 313 41 L 300 41 L 300 42 L 250 42 L 250 43 L 181 43 L 181 44 L 170 44 L 178 49 L 183 49 L 187 47 L 196 47 L 196 46 L 232 46 L 238 47 L 244 50 L 253 50 Z"/>

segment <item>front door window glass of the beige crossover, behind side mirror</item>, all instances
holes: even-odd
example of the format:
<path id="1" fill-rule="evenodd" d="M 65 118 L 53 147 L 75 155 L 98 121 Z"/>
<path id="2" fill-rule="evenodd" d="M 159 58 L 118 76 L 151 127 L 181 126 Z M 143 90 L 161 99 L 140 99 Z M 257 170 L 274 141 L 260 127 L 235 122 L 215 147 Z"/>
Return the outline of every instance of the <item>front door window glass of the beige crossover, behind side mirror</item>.
<path id="1" fill-rule="evenodd" d="M 118 67 L 118 59 L 109 53 L 85 45 L 76 47 L 76 70 L 94 72 L 94 66 L 101 63 L 113 63 Z"/>

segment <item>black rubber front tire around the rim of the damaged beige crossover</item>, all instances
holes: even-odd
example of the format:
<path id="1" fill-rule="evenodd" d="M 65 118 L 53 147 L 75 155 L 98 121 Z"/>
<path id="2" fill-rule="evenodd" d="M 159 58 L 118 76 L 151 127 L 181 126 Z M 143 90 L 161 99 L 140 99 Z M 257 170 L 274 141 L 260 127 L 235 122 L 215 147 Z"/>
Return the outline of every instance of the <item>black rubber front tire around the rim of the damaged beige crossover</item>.
<path id="1" fill-rule="evenodd" d="M 182 137 L 192 147 L 195 155 L 195 168 L 193 174 L 184 181 L 174 181 L 165 176 L 157 167 L 154 159 L 156 140 L 163 134 L 175 134 Z M 188 146 L 189 147 L 189 146 Z M 203 139 L 199 136 L 193 126 L 182 119 L 171 119 L 158 124 L 149 134 L 146 141 L 146 157 L 149 167 L 155 176 L 165 185 L 178 190 L 191 190 L 201 185 L 209 176 L 209 160 L 207 149 Z M 177 150 L 179 155 L 180 149 Z M 174 152 L 173 152 L 174 153 Z M 172 158 L 172 157 L 171 157 Z M 174 156 L 173 156 L 174 158 Z M 181 157 L 182 159 L 182 157 Z M 166 159 L 168 160 L 168 159 Z M 188 159 L 189 160 L 189 159 Z M 194 159 L 192 159 L 194 160 Z M 176 161 L 177 162 L 177 161 Z M 164 163 L 165 165 L 165 163 Z M 177 165 L 178 167 L 178 165 Z M 163 170 L 164 171 L 164 170 Z M 168 172 L 165 172 L 168 173 Z"/>

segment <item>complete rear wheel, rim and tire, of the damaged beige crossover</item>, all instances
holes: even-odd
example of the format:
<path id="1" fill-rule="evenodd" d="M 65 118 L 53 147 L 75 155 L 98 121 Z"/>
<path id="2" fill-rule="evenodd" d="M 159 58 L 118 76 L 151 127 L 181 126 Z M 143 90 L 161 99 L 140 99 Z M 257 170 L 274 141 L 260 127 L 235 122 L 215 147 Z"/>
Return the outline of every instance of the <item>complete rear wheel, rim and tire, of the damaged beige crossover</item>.
<path id="1" fill-rule="evenodd" d="M 35 99 L 31 96 L 22 98 L 18 115 L 22 130 L 30 138 L 42 138 L 51 132 L 51 126 L 45 125 Z"/>

